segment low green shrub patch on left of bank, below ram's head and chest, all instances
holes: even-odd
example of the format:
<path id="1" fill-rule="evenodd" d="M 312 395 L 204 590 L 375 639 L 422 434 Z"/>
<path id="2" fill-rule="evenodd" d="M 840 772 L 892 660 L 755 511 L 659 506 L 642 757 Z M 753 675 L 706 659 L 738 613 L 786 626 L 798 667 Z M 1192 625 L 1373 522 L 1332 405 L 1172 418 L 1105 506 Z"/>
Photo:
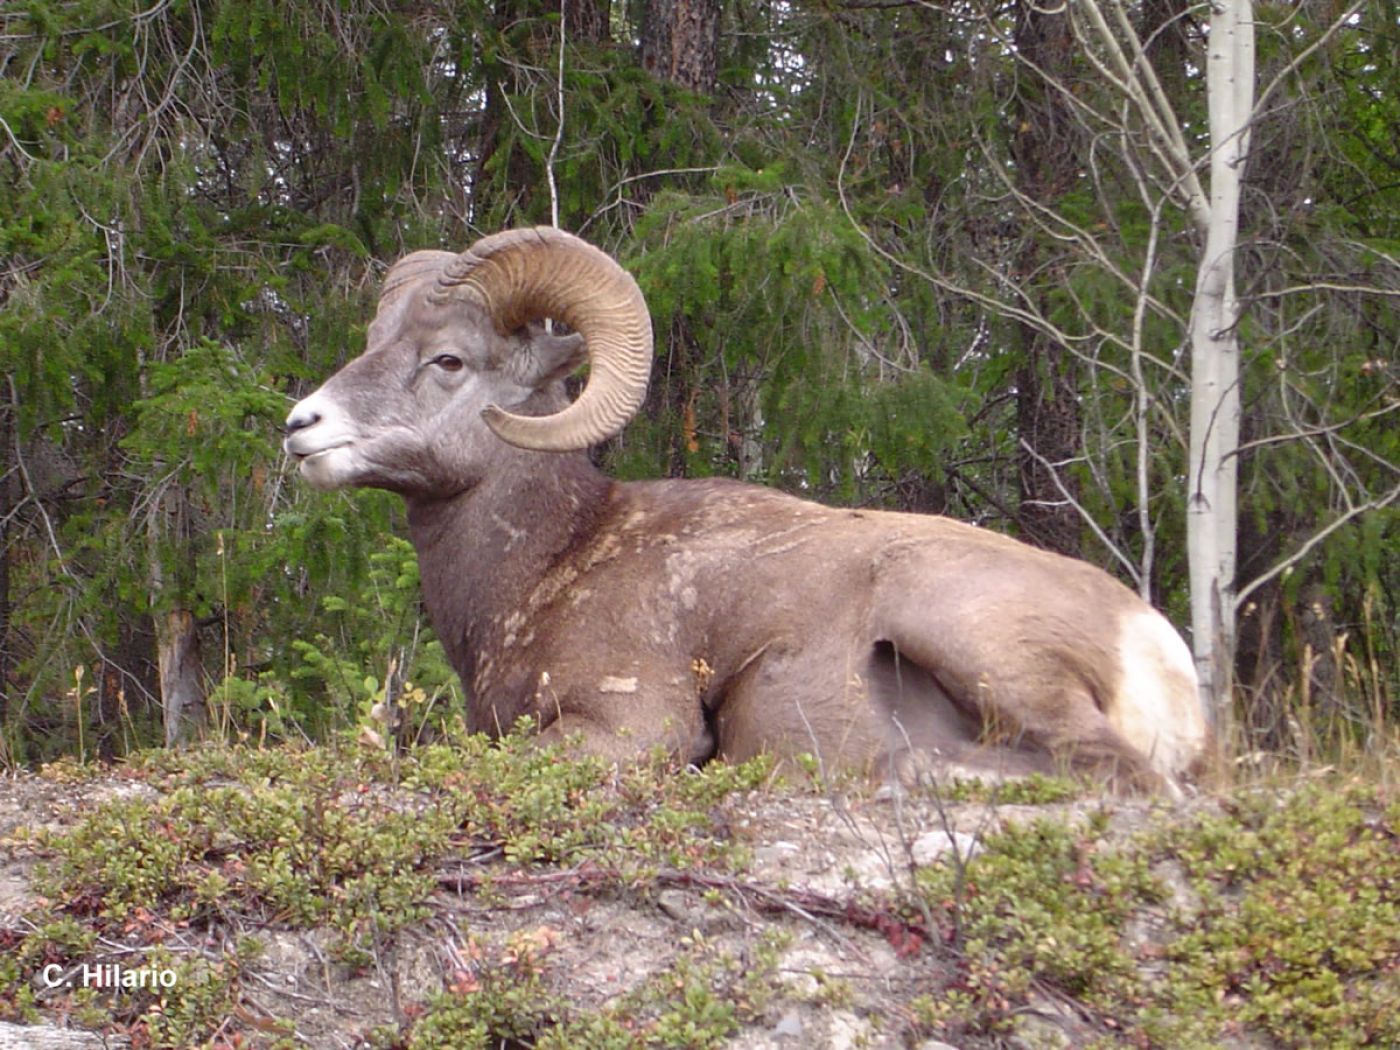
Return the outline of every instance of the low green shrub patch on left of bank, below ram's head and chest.
<path id="1" fill-rule="evenodd" d="M 81 781 L 63 763 L 52 776 Z M 35 1019 L 34 976 L 94 959 L 168 969 L 164 944 L 230 941 L 175 967 L 160 994 L 62 997 L 94 1025 L 151 1046 L 188 1047 L 228 1029 L 258 927 L 328 928 L 332 960 L 371 966 L 386 939 L 428 917 L 442 869 L 501 858 L 510 868 L 582 865 L 620 885 L 658 867 L 728 871 L 741 844 L 710 809 L 770 774 L 767 762 L 678 771 L 659 759 L 617 773 L 596 759 L 511 736 L 463 738 L 389 756 L 378 749 L 151 752 L 119 774 L 155 794 L 113 798 L 62 832 L 21 837 L 46 857 L 49 902 L 27 932 L 0 928 L 0 1018 Z M 489 879 L 487 879 L 489 882 Z M 489 885 L 482 895 L 489 896 Z M 52 993 L 52 990 L 49 990 Z M 273 1029 L 274 1022 L 267 1022 Z M 266 1033 L 267 1026 L 262 1026 Z"/>

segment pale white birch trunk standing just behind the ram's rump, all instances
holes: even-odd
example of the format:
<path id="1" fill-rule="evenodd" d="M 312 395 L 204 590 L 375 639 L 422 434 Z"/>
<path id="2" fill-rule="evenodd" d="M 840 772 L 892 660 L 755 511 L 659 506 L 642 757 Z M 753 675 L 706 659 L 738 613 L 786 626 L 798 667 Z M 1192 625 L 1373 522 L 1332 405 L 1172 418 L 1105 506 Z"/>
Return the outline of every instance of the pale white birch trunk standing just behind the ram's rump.
<path id="1" fill-rule="evenodd" d="M 1191 636 L 1207 718 L 1229 724 L 1235 650 L 1236 475 L 1240 417 L 1235 252 L 1254 105 L 1250 0 L 1212 0 L 1205 62 L 1210 203 L 1191 308 L 1191 435 L 1187 556 Z"/>

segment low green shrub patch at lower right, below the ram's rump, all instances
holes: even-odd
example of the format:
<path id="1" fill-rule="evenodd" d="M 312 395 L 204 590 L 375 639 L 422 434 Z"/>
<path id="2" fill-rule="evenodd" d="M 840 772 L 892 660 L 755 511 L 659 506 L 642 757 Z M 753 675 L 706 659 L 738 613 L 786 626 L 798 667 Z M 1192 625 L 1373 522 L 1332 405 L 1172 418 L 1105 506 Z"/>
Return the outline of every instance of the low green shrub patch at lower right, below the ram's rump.
<path id="1" fill-rule="evenodd" d="M 1245 788 L 1144 830 L 1036 819 L 966 869 L 920 869 L 960 973 L 930 1030 L 1014 1030 L 1067 997 L 1103 1046 L 1400 1046 L 1400 802 L 1373 785 Z"/>

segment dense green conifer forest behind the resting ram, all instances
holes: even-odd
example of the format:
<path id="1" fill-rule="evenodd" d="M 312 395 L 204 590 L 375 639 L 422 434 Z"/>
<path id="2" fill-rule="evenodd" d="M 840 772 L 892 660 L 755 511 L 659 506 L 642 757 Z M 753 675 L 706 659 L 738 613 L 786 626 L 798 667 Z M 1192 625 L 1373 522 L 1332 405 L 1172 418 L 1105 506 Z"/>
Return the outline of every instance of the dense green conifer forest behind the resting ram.
<path id="1" fill-rule="evenodd" d="M 1222 11 L 1253 31 L 1231 165 Z M 396 497 L 295 484 L 280 424 L 395 258 L 522 224 L 651 305 L 608 470 L 946 512 L 1186 629 L 1193 438 L 1229 414 L 1193 419 L 1225 255 L 1190 186 L 1232 174 L 1215 714 L 1242 756 L 1372 746 L 1400 718 L 1397 129 L 1394 0 L 7 3 L 0 766 L 455 717 Z"/>

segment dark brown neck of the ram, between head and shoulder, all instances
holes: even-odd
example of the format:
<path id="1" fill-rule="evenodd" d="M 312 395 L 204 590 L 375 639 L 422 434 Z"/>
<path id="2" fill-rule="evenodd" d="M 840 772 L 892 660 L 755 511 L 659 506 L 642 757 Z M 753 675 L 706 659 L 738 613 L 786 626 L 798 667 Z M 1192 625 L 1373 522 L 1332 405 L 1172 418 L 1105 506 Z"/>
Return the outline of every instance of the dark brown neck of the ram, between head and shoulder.
<path id="1" fill-rule="evenodd" d="M 519 452 L 511 461 L 452 498 L 407 500 L 423 601 L 468 687 L 477 652 L 592 533 L 613 484 L 585 452 Z"/>

